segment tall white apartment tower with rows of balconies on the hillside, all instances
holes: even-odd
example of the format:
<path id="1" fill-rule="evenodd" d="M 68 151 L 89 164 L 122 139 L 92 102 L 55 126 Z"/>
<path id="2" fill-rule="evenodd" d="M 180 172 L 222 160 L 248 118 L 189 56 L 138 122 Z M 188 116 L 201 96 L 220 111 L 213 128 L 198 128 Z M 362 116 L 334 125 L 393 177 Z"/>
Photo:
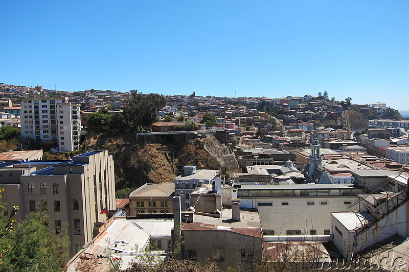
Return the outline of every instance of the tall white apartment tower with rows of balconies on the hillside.
<path id="1" fill-rule="evenodd" d="M 21 136 L 54 143 L 56 151 L 79 149 L 80 106 L 68 97 L 29 97 L 21 104 Z"/>

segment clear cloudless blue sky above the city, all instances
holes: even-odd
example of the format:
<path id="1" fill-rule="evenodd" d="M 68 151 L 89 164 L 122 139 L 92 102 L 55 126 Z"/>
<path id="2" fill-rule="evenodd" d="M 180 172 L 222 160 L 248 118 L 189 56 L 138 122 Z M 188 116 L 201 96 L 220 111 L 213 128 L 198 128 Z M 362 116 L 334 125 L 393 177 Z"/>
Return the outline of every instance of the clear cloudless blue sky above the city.
<path id="1" fill-rule="evenodd" d="M 409 1 L 4 1 L 0 82 L 409 110 Z"/>

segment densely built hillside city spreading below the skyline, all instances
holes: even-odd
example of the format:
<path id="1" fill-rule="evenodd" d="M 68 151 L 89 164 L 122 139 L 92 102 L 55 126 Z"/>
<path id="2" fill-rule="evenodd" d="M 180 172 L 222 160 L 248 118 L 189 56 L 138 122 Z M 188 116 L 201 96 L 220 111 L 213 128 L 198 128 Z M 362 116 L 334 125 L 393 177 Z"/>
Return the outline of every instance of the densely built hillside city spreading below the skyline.
<path id="1" fill-rule="evenodd" d="M 0 83 L 0 270 L 408 269 L 409 118 L 330 96 Z"/>

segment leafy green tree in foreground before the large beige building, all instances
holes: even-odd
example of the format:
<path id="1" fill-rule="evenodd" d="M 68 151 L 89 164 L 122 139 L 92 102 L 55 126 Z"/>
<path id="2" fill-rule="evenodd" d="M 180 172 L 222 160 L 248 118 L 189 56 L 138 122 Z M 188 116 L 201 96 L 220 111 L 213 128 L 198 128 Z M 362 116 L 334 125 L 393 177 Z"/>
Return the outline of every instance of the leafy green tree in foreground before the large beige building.
<path id="1" fill-rule="evenodd" d="M 9 235 L 9 251 L 5 254 L 4 271 L 59 271 L 63 266 L 70 240 L 66 227 L 58 234 L 50 230 L 47 202 L 38 203 L 36 213 L 30 214 Z"/>

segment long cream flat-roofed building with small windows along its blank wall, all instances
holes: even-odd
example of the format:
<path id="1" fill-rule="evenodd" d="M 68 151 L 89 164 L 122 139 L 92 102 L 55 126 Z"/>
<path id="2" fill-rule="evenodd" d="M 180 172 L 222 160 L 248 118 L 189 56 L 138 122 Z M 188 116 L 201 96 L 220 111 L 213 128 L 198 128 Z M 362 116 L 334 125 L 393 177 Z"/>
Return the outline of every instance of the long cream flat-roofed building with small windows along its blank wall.
<path id="1" fill-rule="evenodd" d="M 345 205 L 362 189 L 352 184 L 241 185 L 237 197 L 241 208 L 258 209 L 264 235 L 329 235 L 330 212 L 347 211 Z"/>

